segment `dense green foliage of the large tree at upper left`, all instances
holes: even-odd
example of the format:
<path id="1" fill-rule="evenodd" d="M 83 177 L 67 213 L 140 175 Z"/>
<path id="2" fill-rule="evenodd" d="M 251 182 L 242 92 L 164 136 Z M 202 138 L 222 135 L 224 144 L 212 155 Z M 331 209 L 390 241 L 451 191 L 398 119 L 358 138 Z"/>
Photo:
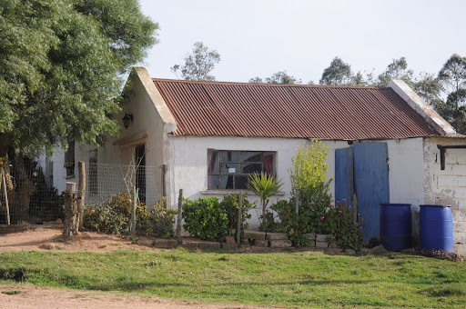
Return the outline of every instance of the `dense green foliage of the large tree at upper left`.
<path id="1" fill-rule="evenodd" d="M 121 74 L 156 42 L 137 0 L 4 0 L 0 16 L 0 145 L 35 154 L 116 135 Z"/>

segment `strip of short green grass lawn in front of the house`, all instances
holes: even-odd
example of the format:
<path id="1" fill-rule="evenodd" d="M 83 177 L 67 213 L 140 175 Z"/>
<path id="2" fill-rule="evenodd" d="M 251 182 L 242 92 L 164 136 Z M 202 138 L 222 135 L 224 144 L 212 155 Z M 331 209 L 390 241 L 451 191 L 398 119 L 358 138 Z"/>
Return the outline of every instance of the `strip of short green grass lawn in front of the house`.
<path id="1" fill-rule="evenodd" d="M 466 264 L 407 254 L 0 254 L 0 283 L 18 281 L 208 303 L 431 308 L 466 304 Z"/>

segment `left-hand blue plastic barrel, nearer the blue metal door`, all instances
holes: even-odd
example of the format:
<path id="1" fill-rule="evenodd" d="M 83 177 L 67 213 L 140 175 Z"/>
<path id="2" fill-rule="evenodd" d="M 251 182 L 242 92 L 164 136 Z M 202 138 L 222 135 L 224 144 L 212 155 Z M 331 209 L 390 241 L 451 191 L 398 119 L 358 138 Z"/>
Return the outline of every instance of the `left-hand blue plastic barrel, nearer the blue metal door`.
<path id="1" fill-rule="evenodd" d="M 380 204 L 380 244 L 390 251 L 410 247 L 411 204 Z"/>

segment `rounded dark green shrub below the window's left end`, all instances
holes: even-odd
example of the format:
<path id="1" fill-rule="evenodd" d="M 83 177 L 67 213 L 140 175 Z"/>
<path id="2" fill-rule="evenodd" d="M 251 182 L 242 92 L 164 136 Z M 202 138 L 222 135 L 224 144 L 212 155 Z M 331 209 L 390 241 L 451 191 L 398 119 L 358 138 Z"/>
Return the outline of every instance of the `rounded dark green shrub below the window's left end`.
<path id="1" fill-rule="evenodd" d="M 185 200 L 183 204 L 183 227 L 200 239 L 221 239 L 228 232 L 228 215 L 223 211 L 218 197 L 198 198 L 196 201 Z"/>

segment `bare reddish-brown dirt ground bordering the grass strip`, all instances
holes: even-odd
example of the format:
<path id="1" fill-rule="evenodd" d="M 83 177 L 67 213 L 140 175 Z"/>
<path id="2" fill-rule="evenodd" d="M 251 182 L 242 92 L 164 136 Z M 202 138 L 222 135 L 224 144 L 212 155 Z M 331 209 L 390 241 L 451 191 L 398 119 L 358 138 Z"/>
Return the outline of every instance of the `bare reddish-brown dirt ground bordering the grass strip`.
<path id="1" fill-rule="evenodd" d="M 115 235 L 81 233 L 72 243 L 65 243 L 59 229 L 26 231 L 15 234 L 0 234 L 0 254 L 7 251 L 53 251 L 53 252 L 111 252 L 122 249 L 158 249 L 145 245 L 131 244 L 127 238 Z M 140 243 L 144 243 L 141 239 Z M 1 256 L 0 256 L 1 257 Z M 0 258 L 1 259 L 1 258 Z M 17 291 L 17 292 L 16 292 Z M 170 299 L 141 296 L 120 296 L 112 293 L 76 291 L 46 288 L 27 284 L 0 285 L 0 309 L 4 308 L 167 308 L 167 309 L 258 309 L 264 307 L 241 304 L 198 304 Z M 274 307 L 277 308 L 277 307 Z"/>

